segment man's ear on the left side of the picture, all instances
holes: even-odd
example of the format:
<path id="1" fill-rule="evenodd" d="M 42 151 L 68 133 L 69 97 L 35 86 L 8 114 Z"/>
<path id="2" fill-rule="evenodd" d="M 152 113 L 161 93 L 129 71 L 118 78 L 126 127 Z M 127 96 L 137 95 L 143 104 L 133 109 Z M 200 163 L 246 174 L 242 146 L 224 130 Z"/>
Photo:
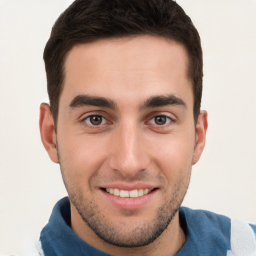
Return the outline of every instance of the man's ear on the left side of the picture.
<path id="1" fill-rule="evenodd" d="M 41 140 L 44 148 L 48 152 L 50 159 L 58 163 L 57 149 L 56 149 L 56 134 L 54 130 L 54 121 L 49 108 L 46 103 L 40 104 L 39 127 Z"/>

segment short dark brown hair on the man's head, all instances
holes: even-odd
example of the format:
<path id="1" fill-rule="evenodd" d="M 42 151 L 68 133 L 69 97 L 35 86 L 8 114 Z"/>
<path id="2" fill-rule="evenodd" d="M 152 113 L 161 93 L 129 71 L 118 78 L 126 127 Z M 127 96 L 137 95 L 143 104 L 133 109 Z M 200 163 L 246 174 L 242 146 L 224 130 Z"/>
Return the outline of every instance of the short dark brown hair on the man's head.
<path id="1" fill-rule="evenodd" d="M 64 60 L 72 46 L 141 34 L 167 37 L 186 48 L 196 122 L 202 94 L 202 50 L 199 34 L 184 10 L 173 0 L 75 0 L 54 23 L 43 53 L 55 126 L 65 77 Z"/>

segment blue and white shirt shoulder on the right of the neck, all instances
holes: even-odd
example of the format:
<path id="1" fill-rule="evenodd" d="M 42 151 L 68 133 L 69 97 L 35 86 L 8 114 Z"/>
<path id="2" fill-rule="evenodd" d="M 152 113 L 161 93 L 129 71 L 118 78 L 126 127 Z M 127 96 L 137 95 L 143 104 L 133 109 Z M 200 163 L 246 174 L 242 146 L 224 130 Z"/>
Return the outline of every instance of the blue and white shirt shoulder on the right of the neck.
<path id="1" fill-rule="evenodd" d="M 187 207 L 180 207 L 179 216 L 192 246 L 200 247 L 199 255 L 256 255 L 254 224 Z"/>

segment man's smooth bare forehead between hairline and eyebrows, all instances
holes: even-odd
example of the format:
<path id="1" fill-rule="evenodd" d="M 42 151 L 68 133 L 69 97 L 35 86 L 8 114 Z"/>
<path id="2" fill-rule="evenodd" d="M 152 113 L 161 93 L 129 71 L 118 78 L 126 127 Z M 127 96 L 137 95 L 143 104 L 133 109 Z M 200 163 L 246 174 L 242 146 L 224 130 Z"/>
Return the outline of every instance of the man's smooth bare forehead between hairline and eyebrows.
<path id="1" fill-rule="evenodd" d="M 191 94 L 185 48 L 149 35 L 102 39 L 75 45 L 64 62 L 60 102 L 78 94 L 115 101 L 154 94 Z"/>

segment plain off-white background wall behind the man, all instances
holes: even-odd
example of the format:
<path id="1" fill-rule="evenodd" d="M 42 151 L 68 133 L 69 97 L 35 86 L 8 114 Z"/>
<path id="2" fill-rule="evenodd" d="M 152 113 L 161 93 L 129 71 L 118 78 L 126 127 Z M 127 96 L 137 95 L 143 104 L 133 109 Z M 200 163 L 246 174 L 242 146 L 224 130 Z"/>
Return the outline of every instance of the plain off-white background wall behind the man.
<path id="1" fill-rule="evenodd" d="M 0 0 L 0 255 L 36 237 L 66 195 L 39 136 L 42 52 L 71 0 Z M 177 0 L 204 53 L 209 129 L 184 205 L 256 222 L 256 1 Z"/>

